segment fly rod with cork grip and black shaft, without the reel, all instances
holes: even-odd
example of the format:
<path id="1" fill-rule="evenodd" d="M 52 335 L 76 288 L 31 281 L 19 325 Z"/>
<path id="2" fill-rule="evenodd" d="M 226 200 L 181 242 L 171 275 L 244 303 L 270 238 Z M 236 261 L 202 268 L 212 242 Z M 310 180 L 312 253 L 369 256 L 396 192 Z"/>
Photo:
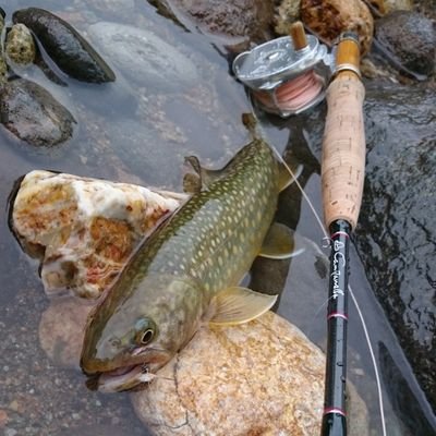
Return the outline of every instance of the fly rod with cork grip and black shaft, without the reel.
<path id="1" fill-rule="evenodd" d="M 322 436 L 346 436 L 347 324 L 350 234 L 361 208 L 365 174 L 365 132 L 355 34 L 342 34 L 336 71 L 327 89 L 322 187 L 325 226 L 330 232 L 327 360 Z"/>

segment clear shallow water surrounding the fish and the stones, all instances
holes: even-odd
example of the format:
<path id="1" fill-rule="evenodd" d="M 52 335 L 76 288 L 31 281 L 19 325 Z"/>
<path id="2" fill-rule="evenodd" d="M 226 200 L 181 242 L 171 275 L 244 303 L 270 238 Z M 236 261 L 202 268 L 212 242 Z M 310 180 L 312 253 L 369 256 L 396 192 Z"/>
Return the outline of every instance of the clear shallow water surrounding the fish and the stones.
<path id="1" fill-rule="evenodd" d="M 194 87 L 183 85 L 171 92 L 155 90 L 145 73 L 136 71 L 137 82 L 132 84 L 123 78 L 123 75 L 129 76 L 128 71 L 118 68 L 114 70 L 119 80 L 114 84 L 92 86 L 69 81 L 69 87 L 62 88 L 37 70 L 28 73 L 72 111 L 78 124 L 70 142 L 56 150 L 45 152 L 19 144 L 0 129 L 0 202 L 3 205 L 0 215 L 0 409 L 9 416 L 5 427 L 9 436 L 78 435 L 85 434 L 86 428 L 89 434 L 144 435 L 147 433 L 135 417 L 126 395 L 104 396 L 87 391 L 78 372 L 57 368 L 40 350 L 39 317 L 49 302 L 37 276 L 36 262 L 22 253 L 8 228 L 8 196 L 14 181 L 33 169 L 180 190 L 183 156 L 195 154 L 203 162 L 219 167 L 243 145 L 249 135 L 240 123 L 240 117 L 250 105 L 242 86 L 229 75 L 228 61 L 219 46 L 213 46 L 205 36 L 185 33 L 156 14 L 145 1 L 122 2 L 129 8 L 132 5 L 132 10 L 120 8 L 112 12 L 101 7 L 85 7 L 86 2 L 80 0 L 71 1 L 62 9 L 57 3 L 49 0 L 8 1 L 3 8 L 8 17 L 14 10 L 31 4 L 46 8 L 64 16 L 83 33 L 89 24 L 98 21 L 147 28 L 195 63 L 199 82 Z M 105 59 L 111 63 L 110 58 Z M 311 144 L 292 123 L 292 120 L 274 120 L 265 131 L 280 153 L 287 149 L 304 165 L 302 179 L 305 191 L 319 213 L 317 162 L 311 155 Z M 323 234 L 313 213 L 295 190 L 281 196 L 278 218 L 322 244 Z M 281 281 L 280 277 L 277 279 L 278 286 L 281 283 L 283 288 L 278 312 L 323 347 L 326 340 L 323 304 L 327 298 L 327 279 L 303 259 L 303 256 L 292 259 L 289 271 L 286 269 Z M 373 298 L 354 251 L 351 266 L 351 284 L 368 324 L 382 367 L 388 434 L 435 434 L 432 424 L 426 423 L 433 420 L 434 425 L 435 419 Z M 256 270 L 259 268 L 256 265 Z M 277 276 L 277 271 L 271 275 Z M 350 379 L 370 409 L 372 434 L 379 435 L 374 372 L 351 303 L 350 319 Z M 11 432 L 13 429 L 17 433 Z"/>

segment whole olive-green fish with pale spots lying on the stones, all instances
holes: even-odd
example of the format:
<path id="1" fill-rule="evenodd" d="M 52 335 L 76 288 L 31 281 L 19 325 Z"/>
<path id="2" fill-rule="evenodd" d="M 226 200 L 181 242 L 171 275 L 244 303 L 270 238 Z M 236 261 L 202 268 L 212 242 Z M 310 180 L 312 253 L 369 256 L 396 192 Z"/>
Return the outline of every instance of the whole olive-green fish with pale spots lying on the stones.
<path id="1" fill-rule="evenodd" d="M 150 382 L 202 326 L 247 323 L 277 300 L 238 284 L 256 256 L 292 256 L 292 231 L 272 223 L 289 172 L 256 135 L 220 170 L 187 162 L 192 195 L 140 243 L 88 317 L 81 367 L 98 390 Z"/>

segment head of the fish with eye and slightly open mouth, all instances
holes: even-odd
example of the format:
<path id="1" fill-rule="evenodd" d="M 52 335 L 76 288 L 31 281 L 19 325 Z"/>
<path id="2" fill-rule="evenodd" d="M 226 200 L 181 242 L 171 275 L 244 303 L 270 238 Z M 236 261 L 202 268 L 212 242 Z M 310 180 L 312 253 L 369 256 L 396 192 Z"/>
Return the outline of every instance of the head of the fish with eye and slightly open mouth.
<path id="1" fill-rule="evenodd" d="M 81 356 L 94 388 L 106 391 L 149 382 L 193 337 L 206 307 L 202 283 L 175 275 L 149 275 L 129 292 L 113 291 L 89 315 Z"/>

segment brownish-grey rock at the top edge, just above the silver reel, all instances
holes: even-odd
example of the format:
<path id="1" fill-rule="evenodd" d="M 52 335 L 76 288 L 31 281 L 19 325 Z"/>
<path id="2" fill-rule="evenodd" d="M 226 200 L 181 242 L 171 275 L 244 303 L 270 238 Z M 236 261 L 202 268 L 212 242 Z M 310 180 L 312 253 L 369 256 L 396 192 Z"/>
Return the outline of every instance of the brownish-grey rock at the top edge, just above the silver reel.
<path id="1" fill-rule="evenodd" d="M 167 0 L 193 21 L 202 32 L 230 37 L 242 37 L 263 43 L 270 35 L 272 24 L 271 0 Z"/>

